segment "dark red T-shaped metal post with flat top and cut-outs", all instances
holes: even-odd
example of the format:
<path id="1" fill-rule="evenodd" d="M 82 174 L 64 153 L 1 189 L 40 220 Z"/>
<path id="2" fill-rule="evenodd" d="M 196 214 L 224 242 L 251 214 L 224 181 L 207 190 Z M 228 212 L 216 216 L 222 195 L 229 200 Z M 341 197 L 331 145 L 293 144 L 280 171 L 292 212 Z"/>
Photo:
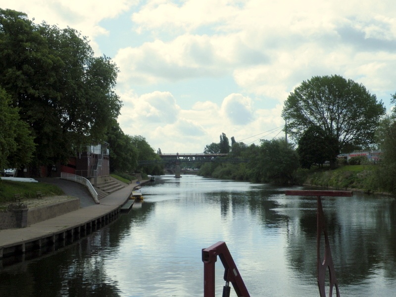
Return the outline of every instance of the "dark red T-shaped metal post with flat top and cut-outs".
<path id="1" fill-rule="evenodd" d="M 326 229 L 326 220 L 322 207 L 321 196 L 327 197 L 352 197 L 351 191 L 315 191 L 315 190 L 289 190 L 285 192 L 286 196 L 316 196 L 317 212 L 316 212 L 316 261 L 317 261 L 317 277 L 320 297 L 326 297 L 326 272 L 330 274 L 329 297 L 333 296 L 333 288 L 336 287 L 337 297 L 340 297 L 336 271 L 334 269 L 333 258 L 331 255 L 329 237 Z M 320 253 L 320 240 L 322 234 L 325 238 L 325 250 L 323 260 Z"/>

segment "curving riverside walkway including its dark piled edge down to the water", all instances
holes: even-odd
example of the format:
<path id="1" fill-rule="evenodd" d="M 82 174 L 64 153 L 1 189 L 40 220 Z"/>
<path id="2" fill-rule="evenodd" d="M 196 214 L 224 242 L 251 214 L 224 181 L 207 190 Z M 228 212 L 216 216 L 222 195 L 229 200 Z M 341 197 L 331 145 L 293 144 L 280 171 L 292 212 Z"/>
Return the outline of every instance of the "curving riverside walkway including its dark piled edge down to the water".
<path id="1" fill-rule="evenodd" d="M 25 228 L 0 230 L 0 259 L 8 254 L 24 254 L 27 249 L 55 245 L 56 242 L 63 241 L 65 245 L 66 240 L 73 242 L 74 238 L 86 236 L 114 220 L 132 190 L 145 182 L 135 182 L 111 193 L 100 199 L 100 204 L 82 207 Z"/>

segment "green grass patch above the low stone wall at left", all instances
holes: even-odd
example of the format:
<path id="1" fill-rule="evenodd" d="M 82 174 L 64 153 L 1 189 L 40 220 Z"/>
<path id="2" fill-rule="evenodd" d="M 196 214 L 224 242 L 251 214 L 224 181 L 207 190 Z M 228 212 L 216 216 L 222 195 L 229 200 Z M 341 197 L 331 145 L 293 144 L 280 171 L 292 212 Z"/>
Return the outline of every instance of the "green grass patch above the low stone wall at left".
<path id="1" fill-rule="evenodd" d="M 0 203 L 14 202 L 14 194 L 20 194 L 22 198 L 36 198 L 37 191 L 46 196 L 64 195 L 55 185 L 0 180 Z"/>

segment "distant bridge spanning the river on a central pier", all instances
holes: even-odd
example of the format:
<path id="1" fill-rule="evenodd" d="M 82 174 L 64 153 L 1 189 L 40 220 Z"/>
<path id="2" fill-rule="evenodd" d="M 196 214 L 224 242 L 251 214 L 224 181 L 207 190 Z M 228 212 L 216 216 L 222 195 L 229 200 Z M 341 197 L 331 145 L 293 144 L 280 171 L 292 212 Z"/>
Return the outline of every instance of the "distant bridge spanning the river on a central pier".
<path id="1" fill-rule="evenodd" d="M 161 153 L 161 160 L 141 160 L 140 166 L 155 164 L 174 164 L 175 177 L 180 178 L 180 164 L 217 162 L 217 163 L 247 163 L 248 158 L 229 158 L 228 153 Z"/>

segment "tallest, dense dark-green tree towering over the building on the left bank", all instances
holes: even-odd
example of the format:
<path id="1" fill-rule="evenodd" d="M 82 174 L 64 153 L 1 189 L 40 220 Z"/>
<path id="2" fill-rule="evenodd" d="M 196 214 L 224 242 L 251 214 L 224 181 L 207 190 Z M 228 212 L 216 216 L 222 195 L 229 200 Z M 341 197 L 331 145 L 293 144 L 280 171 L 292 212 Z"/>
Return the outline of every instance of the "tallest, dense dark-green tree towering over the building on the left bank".
<path id="1" fill-rule="evenodd" d="M 34 130 L 37 162 L 64 161 L 104 140 L 121 108 L 109 58 L 95 57 L 74 29 L 37 25 L 9 9 L 0 9 L 0 44 L 0 84 Z"/>

